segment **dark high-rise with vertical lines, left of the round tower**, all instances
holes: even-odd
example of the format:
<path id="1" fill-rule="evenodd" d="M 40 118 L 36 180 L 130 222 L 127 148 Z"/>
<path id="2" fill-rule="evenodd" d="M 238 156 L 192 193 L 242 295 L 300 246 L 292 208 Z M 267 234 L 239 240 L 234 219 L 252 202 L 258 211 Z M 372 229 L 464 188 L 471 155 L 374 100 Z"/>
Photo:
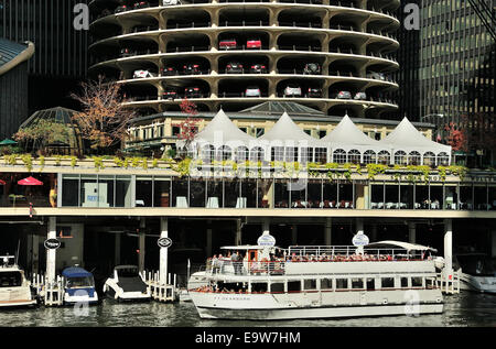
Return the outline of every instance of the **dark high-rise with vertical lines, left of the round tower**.
<path id="1" fill-rule="evenodd" d="M 87 0 L 0 0 L 0 37 L 31 41 L 35 54 L 28 63 L 29 112 L 77 105 L 68 92 L 86 77 L 87 31 L 74 29 L 74 7 Z"/>

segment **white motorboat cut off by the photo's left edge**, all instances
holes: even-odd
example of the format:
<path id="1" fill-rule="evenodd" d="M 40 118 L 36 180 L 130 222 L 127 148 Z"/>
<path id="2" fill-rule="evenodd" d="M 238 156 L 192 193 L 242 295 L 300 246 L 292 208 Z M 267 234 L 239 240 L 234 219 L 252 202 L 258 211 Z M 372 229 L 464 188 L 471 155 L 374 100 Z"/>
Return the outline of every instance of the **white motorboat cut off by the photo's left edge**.
<path id="1" fill-rule="evenodd" d="M 15 257 L 0 255 L 0 307 L 35 305 L 31 283 L 17 265 Z"/>

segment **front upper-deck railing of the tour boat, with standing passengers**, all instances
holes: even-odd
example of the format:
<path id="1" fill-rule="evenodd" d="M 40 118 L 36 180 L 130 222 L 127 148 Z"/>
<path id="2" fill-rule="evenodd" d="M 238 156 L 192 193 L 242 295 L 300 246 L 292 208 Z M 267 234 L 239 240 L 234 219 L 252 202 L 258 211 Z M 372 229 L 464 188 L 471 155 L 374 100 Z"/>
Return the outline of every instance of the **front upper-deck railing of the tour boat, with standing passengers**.
<path id="1" fill-rule="evenodd" d="M 217 259 L 207 262 L 206 270 L 222 275 L 283 275 L 284 261 L 231 261 Z"/>

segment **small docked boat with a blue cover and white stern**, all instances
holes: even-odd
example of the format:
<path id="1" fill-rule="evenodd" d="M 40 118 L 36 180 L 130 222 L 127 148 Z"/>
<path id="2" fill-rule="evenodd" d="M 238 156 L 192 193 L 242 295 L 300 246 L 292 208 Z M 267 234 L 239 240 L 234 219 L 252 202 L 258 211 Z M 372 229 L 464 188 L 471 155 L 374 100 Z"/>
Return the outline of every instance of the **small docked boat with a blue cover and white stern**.
<path id="1" fill-rule="evenodd" d="M 64 304 L 98 303 L 93 274 L 83 268 L 71 266 L 62 271 L 64 277 Z"/>

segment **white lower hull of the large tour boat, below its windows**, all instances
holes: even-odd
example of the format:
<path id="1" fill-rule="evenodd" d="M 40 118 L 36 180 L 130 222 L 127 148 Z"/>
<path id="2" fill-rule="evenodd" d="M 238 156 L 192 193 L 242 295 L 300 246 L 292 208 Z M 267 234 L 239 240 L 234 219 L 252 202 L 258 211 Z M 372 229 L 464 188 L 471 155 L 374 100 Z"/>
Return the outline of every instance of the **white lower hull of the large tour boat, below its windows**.
<path id="1" fill-rule="evenodd" d="M 423 290 L 421 303 L 408 304 L 405 292 L 391 291 L 387 298 L 364 299 L 364 293 L 314 294 L 213 294 L 192 292 L 190 295 L 202 318 L 277 320 L 302 318 L 343 318 L 387 315 L 440 314 L 443 312 L 439 290 Z M 393 295 L 395 294 L 395 295 Z M 312 295 L 309 297 L 309 295 Z M 355 298 L 355 299 L 353 299 Z M 365 298 L 367 298 L 365 296 Z M 374 297 L 369 297 L 374 298 Z M 386 301 L 385 301 L 386 299 Z M 429 301 L 428 301 L 429 299 Z"/>

